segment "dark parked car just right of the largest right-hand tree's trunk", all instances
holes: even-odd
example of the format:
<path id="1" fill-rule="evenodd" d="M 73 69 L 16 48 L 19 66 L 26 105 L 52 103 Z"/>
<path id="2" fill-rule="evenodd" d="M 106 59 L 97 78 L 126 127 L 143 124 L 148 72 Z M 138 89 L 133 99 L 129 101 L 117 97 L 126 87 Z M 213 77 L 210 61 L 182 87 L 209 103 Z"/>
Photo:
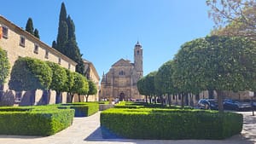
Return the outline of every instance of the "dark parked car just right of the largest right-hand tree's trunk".
<path id="1" fill-rule="evenodd" d="M 250 110 L 252 105 L 250 102 L 239 102 L 233 101 L 231 99 L 224 100 L 224 110 L 232 110 L 232 111 L 244 111 Z"/>

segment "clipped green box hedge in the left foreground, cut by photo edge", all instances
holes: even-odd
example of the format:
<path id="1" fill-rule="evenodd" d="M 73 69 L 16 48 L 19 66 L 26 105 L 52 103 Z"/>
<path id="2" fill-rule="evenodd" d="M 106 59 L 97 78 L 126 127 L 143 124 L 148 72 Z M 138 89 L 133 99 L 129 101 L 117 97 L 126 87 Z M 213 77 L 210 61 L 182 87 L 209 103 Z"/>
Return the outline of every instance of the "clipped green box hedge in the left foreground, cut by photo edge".
<path id="1" fill-rule="evenodd" d="M 1 107 L 0 135 L 54 135 L 73 123 L 74 110 Z"/>

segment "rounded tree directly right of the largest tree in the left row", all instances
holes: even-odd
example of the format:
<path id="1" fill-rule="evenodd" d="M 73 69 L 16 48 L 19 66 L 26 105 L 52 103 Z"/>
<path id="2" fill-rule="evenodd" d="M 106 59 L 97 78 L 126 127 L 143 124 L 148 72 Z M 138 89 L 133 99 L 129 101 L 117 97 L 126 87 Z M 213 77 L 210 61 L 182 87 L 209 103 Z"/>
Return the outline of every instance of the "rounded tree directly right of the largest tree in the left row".
<path id="1" fill-rule="evenodd" d="M 46 61 L 46 63 L 52 70 L 52 82 L 49 88 L 56 91 L 55 103 L 61 103 L 61 92 L 67 91 L 67 72 L 65 68 L 61 67 L 60 65 L 54 62 Z"/>

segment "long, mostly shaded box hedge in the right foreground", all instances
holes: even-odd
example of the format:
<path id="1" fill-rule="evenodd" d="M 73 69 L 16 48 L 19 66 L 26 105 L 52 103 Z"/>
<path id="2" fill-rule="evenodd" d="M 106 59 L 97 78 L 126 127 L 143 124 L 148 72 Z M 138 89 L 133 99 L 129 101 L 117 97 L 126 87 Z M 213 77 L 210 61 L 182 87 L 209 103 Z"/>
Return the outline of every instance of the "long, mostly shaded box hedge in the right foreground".
<path id="1" fill-rule="evenodd" d="M 242 115 L 201 110 L 108 109 L 101 113 L 102 135 L 131 139 L 224 139 L 239 134 Z"/>

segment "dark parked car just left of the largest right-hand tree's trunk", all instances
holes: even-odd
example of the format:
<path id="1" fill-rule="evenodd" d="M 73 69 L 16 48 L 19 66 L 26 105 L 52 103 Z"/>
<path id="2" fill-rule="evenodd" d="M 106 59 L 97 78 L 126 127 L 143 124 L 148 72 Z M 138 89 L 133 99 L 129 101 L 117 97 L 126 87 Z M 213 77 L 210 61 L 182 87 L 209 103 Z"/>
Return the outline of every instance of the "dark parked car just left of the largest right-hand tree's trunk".
<path id="1" fill-rule="evenodd" d="M 197 106 L 200 109 L 218 110 L 218 102 L 215 99 L 201 99 Z"/>

